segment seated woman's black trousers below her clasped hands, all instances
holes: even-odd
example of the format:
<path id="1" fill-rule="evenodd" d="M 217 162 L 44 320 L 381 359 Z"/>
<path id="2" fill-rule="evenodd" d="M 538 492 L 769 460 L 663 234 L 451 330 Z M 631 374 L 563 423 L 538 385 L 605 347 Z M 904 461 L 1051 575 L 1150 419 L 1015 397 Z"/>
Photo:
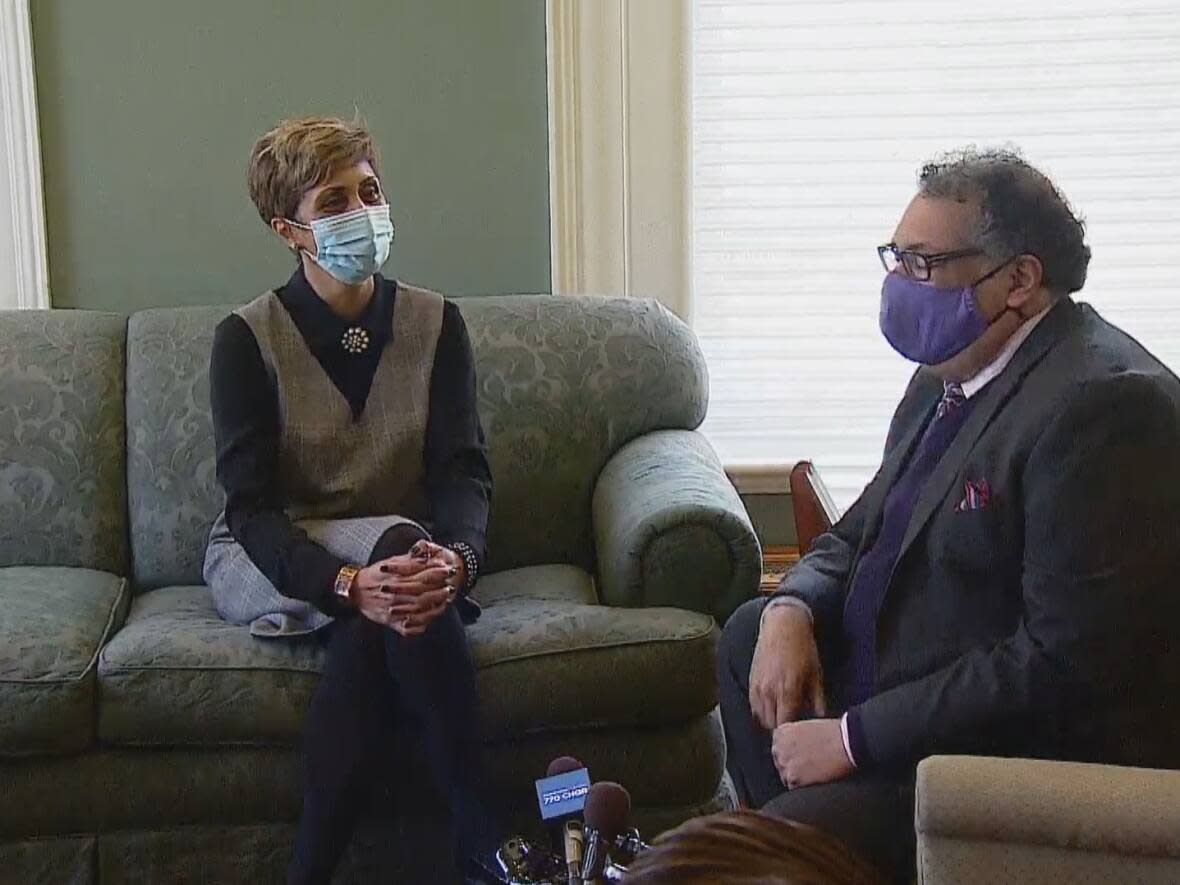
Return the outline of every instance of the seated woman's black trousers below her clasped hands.
<path id="1" fill-rule="evenodd" d="M 372 562 L 405 553 L 420 537 L 412 526 L 391 529 Z M 330 880 L 368 784 L 378 769 L 398 763 L 389 749 L 406 730 L 420 736 L 450 806 L 457 860 L 498 844 L 503 833 L 484 801 L 476 670 L 454 607 L 417 637 L 359 614 L 340 617 L 326 630 L 323 675 L 303 727 L 303 809 L 288 881 Z"/>

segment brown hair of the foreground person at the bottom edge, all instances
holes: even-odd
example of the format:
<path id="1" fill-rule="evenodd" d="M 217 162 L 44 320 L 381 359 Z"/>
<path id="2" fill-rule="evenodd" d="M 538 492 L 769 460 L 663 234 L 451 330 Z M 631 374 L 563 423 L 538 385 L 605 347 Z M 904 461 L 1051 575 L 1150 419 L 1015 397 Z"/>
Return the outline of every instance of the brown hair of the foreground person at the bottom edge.
<path id="1" fill-rule="evenodd" d="M 752 811 L 689 820 L 655 840 L 624 885 L 883 885 L 851 848 L 814 827 Z"/>

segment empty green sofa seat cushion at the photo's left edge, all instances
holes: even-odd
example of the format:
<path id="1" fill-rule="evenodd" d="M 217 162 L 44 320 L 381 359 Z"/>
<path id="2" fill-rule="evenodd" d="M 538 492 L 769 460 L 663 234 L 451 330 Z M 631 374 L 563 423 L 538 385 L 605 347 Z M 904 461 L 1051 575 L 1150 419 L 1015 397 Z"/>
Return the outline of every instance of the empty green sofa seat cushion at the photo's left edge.
<path id="1" fill-rule="evenodd" d="M 126 582 L 90 569 L 0 569 L 0 755 L 94 740 L 94 664 L 126 614 Z"/>

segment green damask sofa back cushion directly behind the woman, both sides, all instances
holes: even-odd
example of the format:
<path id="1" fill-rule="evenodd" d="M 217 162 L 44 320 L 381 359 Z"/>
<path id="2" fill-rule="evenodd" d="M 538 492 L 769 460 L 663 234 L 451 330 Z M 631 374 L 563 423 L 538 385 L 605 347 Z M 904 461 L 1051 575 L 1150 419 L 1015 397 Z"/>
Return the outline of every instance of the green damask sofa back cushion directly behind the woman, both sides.
<path id="1" fill-rule="evenodd" d="M 590 497 L 624 442 L 704 418 L 704 361 L 654 301 L 457 299 L 494 490 L 491 570 L 594 564 Z M 201 583 L 223 498 L 209 412 L 212 332 L 230 308 L 146 310 L 127 330 L 127 490 L 139 589 Z"/>

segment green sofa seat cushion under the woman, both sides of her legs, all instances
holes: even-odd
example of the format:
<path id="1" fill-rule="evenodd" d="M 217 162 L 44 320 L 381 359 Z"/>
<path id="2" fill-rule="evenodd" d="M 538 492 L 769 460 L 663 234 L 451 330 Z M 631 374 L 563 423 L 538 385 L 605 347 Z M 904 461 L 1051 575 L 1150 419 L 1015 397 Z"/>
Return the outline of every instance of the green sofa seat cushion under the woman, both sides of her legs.
<path id="1" fill-rule="evenodd" d="M 590 576 L 565 565 L 490 575 L 478 589 L 484 615 L 467 635 L 490 741 L 686 722 L 716 703 L 708 616 L 605 608 Z M 223 621 L 203 586 L 152 590 L 99 658 L 99 738 L 294 743 L 322 660 L 316 637 L 264 640 Z"/>

